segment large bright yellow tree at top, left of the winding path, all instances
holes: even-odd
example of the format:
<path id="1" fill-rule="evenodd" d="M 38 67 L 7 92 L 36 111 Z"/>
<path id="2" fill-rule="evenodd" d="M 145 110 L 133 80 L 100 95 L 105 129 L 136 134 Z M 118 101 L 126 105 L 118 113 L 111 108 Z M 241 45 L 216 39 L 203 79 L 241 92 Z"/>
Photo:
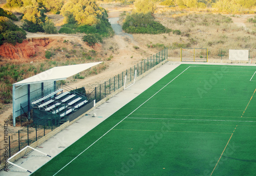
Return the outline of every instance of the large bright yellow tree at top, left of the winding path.
<path id="1" fill-rule="evenodd" d="M 69 0 L 61 8 L 61 14 L 65 16 L 66 23 L 73 16 L 78 24 L 91 26 L 100 23 L 103 10 L 97 6 L 94 0 Z"/>

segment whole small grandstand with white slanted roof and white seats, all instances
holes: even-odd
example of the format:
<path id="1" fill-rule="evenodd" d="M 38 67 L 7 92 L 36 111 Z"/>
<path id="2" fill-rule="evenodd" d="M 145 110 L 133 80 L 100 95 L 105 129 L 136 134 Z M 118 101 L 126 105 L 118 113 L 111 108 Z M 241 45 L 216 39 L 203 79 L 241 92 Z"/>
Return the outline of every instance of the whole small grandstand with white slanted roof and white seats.
<path id="1" fill-rule="evenodd" d="M 33 121 L 38 125 L 45 123 L 59 125 L 67 120 L 72 121 L 76 118 L 75 116 L 81 115 L 82 110 L 79 111 L 79 109 L 90 104 L 86 95 L 73 90 L 71 87 L 60 85 L 57 81 L 65 80 L 100 63 L 54 67 L 14 83 L 12 91 L 13 126 L 16 124 L 16 117 L 20 115 L 25 114 L 30 119 L 32 109 Z M 89 106 L 92 107 L 92 105 L 93 103 Z"/>

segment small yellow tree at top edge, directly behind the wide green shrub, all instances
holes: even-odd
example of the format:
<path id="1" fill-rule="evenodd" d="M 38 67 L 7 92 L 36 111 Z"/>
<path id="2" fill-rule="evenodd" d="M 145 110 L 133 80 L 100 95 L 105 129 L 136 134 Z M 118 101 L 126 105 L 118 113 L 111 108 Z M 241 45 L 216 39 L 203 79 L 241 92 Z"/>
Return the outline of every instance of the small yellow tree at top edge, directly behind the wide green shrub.
<path id="1" fill-rule="evenodd" d="M 153 14 L 157 9 L 156 4 L 152 0 L 136 0 L 134 2 L 135 9 L 133 10 L 134 13 L 151 13 Z"/>

